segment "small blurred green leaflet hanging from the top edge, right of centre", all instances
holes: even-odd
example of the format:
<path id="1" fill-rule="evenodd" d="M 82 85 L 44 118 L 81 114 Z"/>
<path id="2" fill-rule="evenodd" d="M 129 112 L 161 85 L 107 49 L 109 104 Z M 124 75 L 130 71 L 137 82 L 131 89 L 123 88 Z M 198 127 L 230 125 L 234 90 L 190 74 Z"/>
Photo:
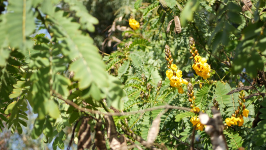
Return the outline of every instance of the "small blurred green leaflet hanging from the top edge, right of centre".
<path id="1" fill-rule="evenodd" d="M 199 0 L 189 0 L 180 15 L 181 26 L 186 26 L 187 21 L 193 20 L 193 13 L 199 7 Z"/>

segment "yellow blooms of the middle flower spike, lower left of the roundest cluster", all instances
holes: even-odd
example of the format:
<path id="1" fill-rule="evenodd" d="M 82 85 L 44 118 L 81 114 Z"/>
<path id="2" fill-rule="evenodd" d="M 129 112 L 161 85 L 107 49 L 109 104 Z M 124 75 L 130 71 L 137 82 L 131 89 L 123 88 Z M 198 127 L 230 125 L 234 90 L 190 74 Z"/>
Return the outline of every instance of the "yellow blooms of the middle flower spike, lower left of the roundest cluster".
<path id="1" fill-rule="evenodd" d="M 182 84 L 188 84 L 186 79 L 182 78 L 182 71 L 177 69 L 176 64 L 171 64 L 171 69 L 166 70 L 166 76 L 170 79 L 170 85 L 178 88 L 179 93 L 183 93 L 184 89 L 181 87 Z"/>

